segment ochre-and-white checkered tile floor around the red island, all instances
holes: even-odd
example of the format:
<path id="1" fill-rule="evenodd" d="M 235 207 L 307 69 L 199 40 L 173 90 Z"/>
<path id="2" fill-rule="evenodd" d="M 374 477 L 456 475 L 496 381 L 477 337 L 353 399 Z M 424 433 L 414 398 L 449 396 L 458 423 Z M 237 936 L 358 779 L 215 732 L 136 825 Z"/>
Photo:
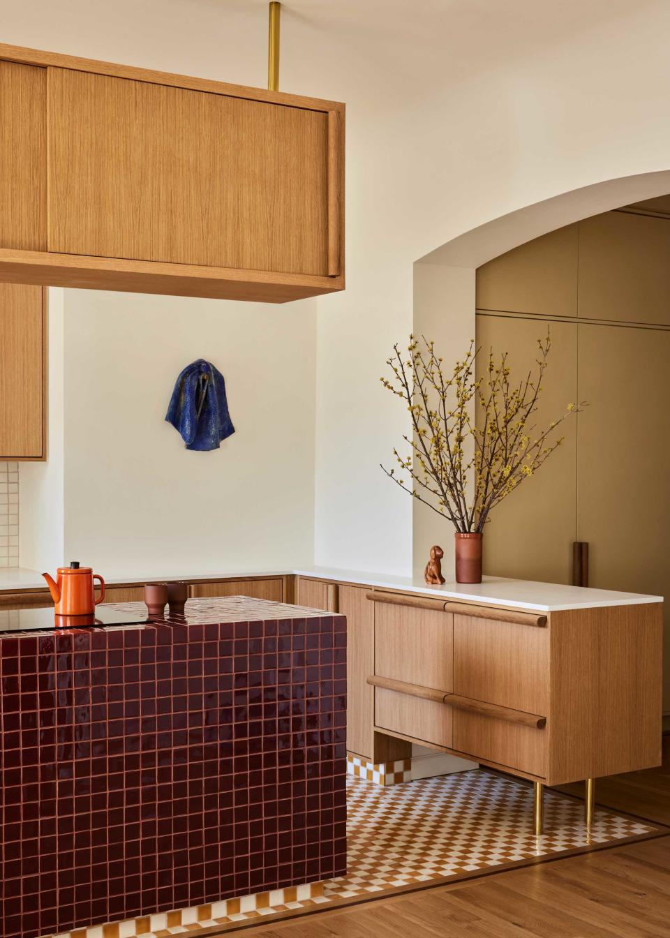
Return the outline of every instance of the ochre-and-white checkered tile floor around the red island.
<path id="1" fill-rule="evenodd" d="M 286 916 L 373 899 L 496 867 L 523 866 L 566 851 L 582 852 L 644 839 L 662 828 L 597 809 L 590 830 L 584 804 L 544 794 L 544 830 L 533 834 L 532 787 L 473 769 L 391 786 L 349 776 L 346 876 L 323 884 L 277 890 L 244 899 L 148 915 L 57 938 L 168 938 L 233 930 Z"/>

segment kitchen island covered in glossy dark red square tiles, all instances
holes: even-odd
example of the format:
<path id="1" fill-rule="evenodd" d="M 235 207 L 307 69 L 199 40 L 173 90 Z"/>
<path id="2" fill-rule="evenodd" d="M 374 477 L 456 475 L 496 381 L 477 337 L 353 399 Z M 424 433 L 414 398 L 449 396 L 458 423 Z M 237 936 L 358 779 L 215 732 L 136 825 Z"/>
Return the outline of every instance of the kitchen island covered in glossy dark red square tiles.
<path id="1" fill-rule="evenodd" d="M 2 938 L 345 871 L 343 616 L 231 597 L 5 634 L 0 680 Z"/>

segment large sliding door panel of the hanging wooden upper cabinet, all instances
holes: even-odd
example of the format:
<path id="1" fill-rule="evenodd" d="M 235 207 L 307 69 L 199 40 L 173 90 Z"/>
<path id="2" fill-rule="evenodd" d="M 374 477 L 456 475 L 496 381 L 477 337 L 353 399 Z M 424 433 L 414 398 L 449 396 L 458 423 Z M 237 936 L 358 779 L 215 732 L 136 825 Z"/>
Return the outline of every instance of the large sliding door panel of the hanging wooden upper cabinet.
<path id="1" fill-rule="evenodd" d="M 49 250 L 331 272 L 327 112 L 68 68 L 48 83 Z"/>

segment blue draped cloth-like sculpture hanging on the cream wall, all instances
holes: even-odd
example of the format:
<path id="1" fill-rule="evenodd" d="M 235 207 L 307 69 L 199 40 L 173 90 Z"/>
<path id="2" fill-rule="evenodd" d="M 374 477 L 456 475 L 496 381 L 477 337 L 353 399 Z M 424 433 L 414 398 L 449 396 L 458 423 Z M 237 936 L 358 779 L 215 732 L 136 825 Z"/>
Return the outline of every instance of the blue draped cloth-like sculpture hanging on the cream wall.
<path id="1" fill-rule="evenodd" d="M 218 449 L 221 440 L 235 433 L 221 371 L 204 358 L 188 365 L 176 379 L 165 419 L 187 449 Z"/>

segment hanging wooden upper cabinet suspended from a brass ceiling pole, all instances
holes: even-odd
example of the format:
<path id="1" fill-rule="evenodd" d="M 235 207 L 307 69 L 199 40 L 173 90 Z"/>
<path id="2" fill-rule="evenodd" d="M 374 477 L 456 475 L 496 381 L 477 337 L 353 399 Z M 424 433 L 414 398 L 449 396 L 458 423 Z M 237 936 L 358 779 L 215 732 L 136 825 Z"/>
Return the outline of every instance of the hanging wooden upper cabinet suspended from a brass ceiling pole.
<path id="1" fill-rule="evenodd" d="M 0 280 L 258 302 L 343 290 L 343 104 L 13 46 L 0 59 Z"/>

